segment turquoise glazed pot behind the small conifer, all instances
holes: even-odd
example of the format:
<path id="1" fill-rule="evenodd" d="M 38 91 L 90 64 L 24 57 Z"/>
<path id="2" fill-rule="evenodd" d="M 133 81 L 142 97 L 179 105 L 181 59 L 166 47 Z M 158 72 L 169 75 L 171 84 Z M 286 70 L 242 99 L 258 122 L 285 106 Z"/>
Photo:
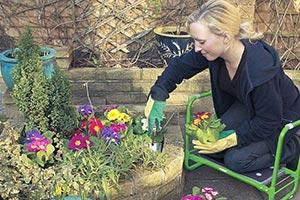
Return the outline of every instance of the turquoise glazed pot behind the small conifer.
<path id="1" fill-rule="evenodd" d="M 7 90 L 11 91 L 14 87 L 14 80 L 12 77 L 13 69 L 15 68 L 18 60 L 12 57 L 15 49 L 8 49 L 0 54 L 1 74 Z M 44 66 L 44 73 L 48 78 L 51 78 L 54 71 L 54 64 L 56 51 L 52 48 L 41 48 L 41 59 Z"/>

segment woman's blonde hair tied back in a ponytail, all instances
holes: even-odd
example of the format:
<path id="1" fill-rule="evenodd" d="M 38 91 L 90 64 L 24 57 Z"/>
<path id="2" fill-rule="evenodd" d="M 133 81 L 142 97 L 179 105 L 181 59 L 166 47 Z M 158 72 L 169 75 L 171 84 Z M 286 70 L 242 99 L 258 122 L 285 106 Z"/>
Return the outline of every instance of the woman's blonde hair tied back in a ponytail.
<path id="1" fill-rule="evenodd" d="M 225 0 L 209 0 L 194 11 L 186 21 L 188 31 L 194 22 L 204 23 L 216 35 L 227 32 L 235 38 L 250 40 L 263 36 L 262 33 L 253 31 L 250 23 L 242 23 L 239 8 Z"/>

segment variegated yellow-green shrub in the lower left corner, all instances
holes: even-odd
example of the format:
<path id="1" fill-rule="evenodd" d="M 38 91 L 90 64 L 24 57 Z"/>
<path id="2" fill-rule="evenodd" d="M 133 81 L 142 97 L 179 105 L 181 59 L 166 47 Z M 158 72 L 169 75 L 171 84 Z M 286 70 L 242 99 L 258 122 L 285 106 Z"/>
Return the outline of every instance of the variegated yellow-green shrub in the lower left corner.
<path id="1" fill-rule="evenodd" d="M 50 199 L 54 166 L 42 168 L 22 153 L 21 130 L 5 123 L 0 138 L 0 194 L 4 199 Z"/>

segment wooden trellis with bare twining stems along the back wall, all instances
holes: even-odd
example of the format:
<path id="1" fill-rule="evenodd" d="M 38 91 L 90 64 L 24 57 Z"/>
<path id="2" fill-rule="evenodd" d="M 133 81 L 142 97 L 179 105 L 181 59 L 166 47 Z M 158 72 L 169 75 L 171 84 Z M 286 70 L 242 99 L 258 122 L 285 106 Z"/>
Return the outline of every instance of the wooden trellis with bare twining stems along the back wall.
<path id="1" fill-rule="evenodd" d="M 154 1 L 0 0 L 0 42 L 5 44 L 1 48 L 13 47 L 11 41 L 16 43 L 29 25 L 40 45 L 68 47 L 73 60 L 84 60 L 84 66 L 157 66 L 160 59 L 152 29 L 157 24 L 184 24 L 184 17 L 205 0 L 164 0 L 161 12 Z M 254 26 L 266 32 L 265 39 L 280 50 L 284 64 L 292 60 L 292 68 L 299 69 L 300 14 L 292 9 L 296 1 L 232 1 L 240 6 L 243 18 L 256 13 Z M 264 12 L 272 17 L 263 16 Z"/>

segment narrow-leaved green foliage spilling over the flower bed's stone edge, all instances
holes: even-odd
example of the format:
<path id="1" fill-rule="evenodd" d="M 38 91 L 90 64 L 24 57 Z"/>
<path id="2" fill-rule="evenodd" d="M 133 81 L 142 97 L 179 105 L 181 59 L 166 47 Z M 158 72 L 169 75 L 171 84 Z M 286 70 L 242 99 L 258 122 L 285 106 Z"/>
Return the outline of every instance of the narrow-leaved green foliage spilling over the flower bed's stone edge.
<path id="1" fill-rule="evenodd" d="M 60 188 L 57 196 L 81 194 L 92 199 L 109 199 L 113 191 L 120 190 L 119 180 L 130 176 L 137 165 L 147 169 L 165 165 L 165 154 L 159 157 L 147 148 L 150 142 L 147 136 L 128 134 L 120 145 L 91 139 L 94 146 L 87 150 L 64 149 L 62 169 L 56 176 L 56 187 Z"/>

